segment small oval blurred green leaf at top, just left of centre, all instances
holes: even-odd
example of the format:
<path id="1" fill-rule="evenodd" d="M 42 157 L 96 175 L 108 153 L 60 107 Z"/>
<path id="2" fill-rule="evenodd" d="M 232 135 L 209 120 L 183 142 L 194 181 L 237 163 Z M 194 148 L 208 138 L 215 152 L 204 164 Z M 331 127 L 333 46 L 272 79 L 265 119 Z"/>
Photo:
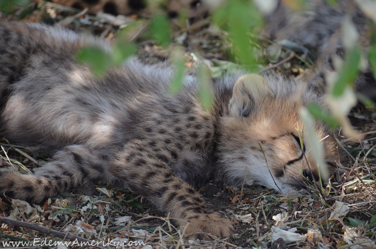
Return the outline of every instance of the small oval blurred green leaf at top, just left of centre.
<path id="1" fill-rule="evenodd" d="M 152 38 L 161 46 L 167 46 L 170 43 L 170 20 L 166 15 L 155 15 L 151 20 L 150 28 Z"/>

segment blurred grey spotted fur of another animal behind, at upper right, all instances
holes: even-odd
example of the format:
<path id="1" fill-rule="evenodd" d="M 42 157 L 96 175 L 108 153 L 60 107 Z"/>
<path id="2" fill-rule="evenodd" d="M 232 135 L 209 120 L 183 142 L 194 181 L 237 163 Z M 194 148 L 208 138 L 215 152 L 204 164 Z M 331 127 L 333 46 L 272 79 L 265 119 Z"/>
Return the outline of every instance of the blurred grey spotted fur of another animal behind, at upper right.
<path id="1" fill-rule="evenodd" d="M 366 55 L 370 28 L 365 14 L 353 0 L 340 0 L 330 5 L 325 0 L 314 0 L 299 11 L 291 10 L 278 0 L 275 9 L 266 16 L 264 32 L 269 39 L 289 40 L 306 47 L 317 55 L 314 70 L 306 77 L 317 92 L 326 91 L 327 77 L 338 70 L 336 60 L 345 57 L 343 22 L 348 16 L 358 32 L 358 43 Z M 376 102 L 376 80 L 369 65 L 364 66 L 355 81 L 359 93 Z"/>

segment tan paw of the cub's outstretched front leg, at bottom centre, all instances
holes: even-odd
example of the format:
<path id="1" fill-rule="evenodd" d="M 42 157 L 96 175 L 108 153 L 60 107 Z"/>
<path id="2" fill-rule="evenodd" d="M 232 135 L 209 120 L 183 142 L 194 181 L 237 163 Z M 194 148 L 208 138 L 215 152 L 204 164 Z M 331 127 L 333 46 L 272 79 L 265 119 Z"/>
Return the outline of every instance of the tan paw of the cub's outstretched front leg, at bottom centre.
<path id="1" fill-rule="evenodd" d="M 220 238 L 232 238 L 233 227 L 231 221 L 220 217 L 216 213 L 198 214 L 187 220 L 185 233 L 191 238 L 212 239 L 214 235 Z"/>

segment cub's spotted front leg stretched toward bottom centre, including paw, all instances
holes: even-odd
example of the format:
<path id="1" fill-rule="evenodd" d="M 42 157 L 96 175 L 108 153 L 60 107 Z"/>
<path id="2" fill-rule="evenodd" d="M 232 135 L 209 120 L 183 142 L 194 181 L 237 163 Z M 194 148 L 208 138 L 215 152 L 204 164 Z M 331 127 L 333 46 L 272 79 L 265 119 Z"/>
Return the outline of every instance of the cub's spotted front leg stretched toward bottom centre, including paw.
<path id="1" fill-rule="evenodd" d="M 177 177 L 166 162 L 140 143 L 126 147 L 117 153 L 111 171 L 134 192 L 170 213 L 190 237 L 232 237 L 231 221 L 210 211 L 197 191 Z"/>

